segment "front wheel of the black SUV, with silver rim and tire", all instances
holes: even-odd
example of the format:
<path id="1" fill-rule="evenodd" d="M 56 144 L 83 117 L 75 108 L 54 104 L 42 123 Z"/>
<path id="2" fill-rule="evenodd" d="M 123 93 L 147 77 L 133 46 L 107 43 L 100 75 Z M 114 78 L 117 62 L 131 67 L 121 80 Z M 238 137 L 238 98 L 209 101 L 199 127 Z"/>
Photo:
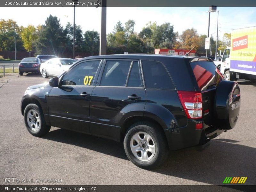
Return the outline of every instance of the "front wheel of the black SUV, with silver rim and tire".
<path id="1" fill-rule="evenodd" d="M 28 104 L 25 108 L 24 121 L 28 132 L 37 137 L 45 135 L 51 129 L 51 126 L 45 123 L 42 109 L 34 103 Z"/>

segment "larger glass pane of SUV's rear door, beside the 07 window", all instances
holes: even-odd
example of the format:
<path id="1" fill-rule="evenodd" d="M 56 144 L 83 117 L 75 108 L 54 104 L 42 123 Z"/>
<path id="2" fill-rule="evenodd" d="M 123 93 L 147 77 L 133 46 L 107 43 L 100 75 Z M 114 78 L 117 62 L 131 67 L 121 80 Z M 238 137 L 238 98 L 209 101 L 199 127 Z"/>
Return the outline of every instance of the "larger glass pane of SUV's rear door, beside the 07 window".
<path id="1" fill-rule="evenodd" d="M 132 61 L 111 61 L 106 62 L 101 82 L 101 86 L 125 86 L 126 79 Z"/>

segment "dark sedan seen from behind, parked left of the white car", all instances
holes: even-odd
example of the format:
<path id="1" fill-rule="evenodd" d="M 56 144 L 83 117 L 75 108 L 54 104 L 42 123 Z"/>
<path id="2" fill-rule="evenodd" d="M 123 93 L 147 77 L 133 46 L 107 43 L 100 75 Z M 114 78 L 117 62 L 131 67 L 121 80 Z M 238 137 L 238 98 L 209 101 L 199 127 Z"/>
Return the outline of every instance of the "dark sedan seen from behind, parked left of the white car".
<path id="1" fill-rule="evenodd" d="M 20 61 L 19 64 L 19 73 L 23 75 L 23 73 L 40 73 L 40 64 L 41 60 L 36 57 L 27 57 Z"/>

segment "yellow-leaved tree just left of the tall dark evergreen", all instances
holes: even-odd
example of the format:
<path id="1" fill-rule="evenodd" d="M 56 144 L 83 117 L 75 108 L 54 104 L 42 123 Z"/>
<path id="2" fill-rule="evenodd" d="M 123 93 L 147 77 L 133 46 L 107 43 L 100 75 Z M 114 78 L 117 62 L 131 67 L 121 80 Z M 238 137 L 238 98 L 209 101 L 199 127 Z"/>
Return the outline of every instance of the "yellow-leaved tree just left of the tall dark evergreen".
<path id="1" fill-rule="evenodd" d="M 37 39 L 36 28 L 33 25 L 23 28 L 21 32 L 21 39 L 23 46 L 27 51 L 33 51 L 33 43 Z"/>

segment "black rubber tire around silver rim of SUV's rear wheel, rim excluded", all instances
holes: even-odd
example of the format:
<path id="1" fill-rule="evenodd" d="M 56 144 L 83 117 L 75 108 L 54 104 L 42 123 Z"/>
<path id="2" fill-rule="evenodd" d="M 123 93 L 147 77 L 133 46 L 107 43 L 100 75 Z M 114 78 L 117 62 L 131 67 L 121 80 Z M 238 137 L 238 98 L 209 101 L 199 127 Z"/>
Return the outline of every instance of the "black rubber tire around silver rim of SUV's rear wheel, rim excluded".
<path id="1" fill-rule="evenodd" d="M 162 128 L 159 127 L 158 125 L 150 123 L 150 122 L 138 122 L 138 123 L 131 125 L 131 127 L 127 130 L 127 132 L 125 134 L 124 150 L 125 150 L 127 157 L 130 159 L 130 161 L 133 164 L 135 164 L 136 166 L 138 166 L 142 169 L 153 169 L 153 168 L 156 168 L 164 163 L 164 161 L 168 157 L 169 148 L 168 148 L 168 144 L 167 144 L 164 132 L 161 129 Z M 154 142 L 154 145 L 152 145 L 152 146 L 155 146 L 154 156 L 151 157 L 151 159 L 149 159 L 147 161 L 140 160 L 139 159 L 140 157 L 136 157 L 132 153 L 131 140 L 132 140 L 133 135 L 138 134 L 139 132 L 147 133 L 153 139 L 153 142 Z M 140 145 L 140 144 L 138 143 L 138 145 Z M 145 148 L 144 148 L 144 150 L 145 150 Z M 138 153 L 136 155 L 139 156 L 139 153 L 140 153 L 141 157 L 142 157 L 142 152 L 143 152 L 142 150 L 141 150 L 141 152 L 138 151 Z M 147 149 L 146 149 L 146 153 L 148 156 Z M 149 154 L 150 154 L 150 152 L 149 152 Z"/>

